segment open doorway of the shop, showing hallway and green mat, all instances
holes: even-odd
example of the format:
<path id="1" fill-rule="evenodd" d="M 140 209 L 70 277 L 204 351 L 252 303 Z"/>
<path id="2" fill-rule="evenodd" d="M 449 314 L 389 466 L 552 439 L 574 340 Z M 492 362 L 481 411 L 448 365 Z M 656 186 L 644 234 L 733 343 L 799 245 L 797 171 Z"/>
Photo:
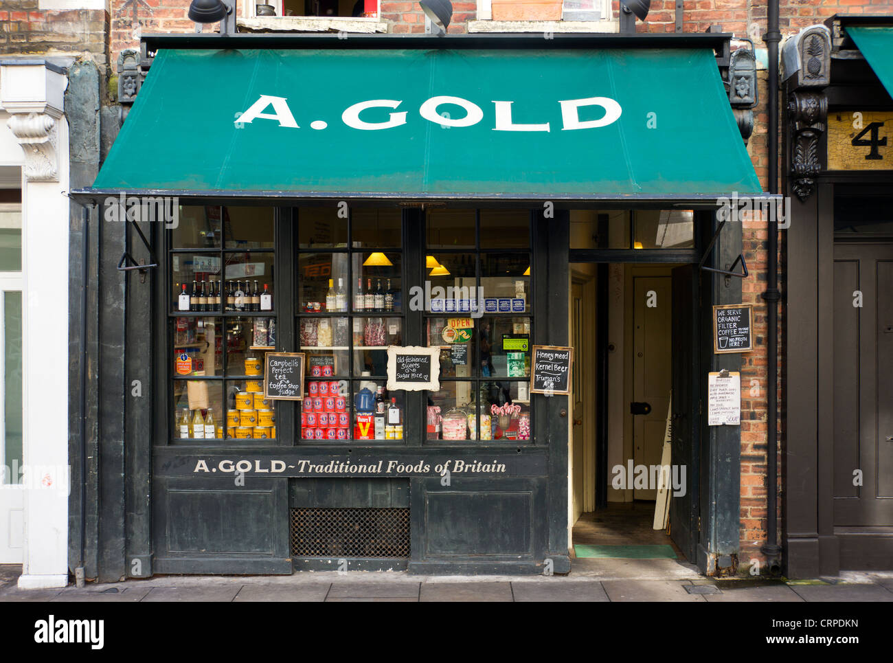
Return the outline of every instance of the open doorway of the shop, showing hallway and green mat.
<path id="1" fill-rule="evenodd" d="M 571 554 L 584 567 L 612 557 L 692 562 L 669 526 L 669 501 L 684 499 L 679 493 L 690 490 L 692 477 L 672 460 L 668 425 L 681 411 L 671 407 L 674 356 L 691 354 L 674 339 L 674 315 L 688 317 L 697 306 L 679 295 L 690 267 L 571 267 Z"/>

